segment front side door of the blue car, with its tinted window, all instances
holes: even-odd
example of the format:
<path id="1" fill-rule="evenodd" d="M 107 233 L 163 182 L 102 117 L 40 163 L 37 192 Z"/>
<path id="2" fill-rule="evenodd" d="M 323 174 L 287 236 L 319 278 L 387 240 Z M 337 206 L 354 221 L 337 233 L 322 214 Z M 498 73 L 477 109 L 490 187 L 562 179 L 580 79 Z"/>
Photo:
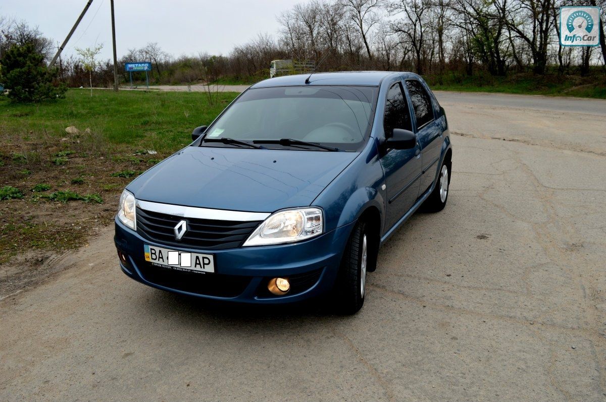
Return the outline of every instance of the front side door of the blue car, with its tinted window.
<path id="1" fill-rule="evenodd" d="M 394 128 L 412 131 L 411 110 L 402 88 L 402 82 L 391 84 L 385 99 L 383 118 L 384 139 L 391 137 Z M 385 173 L 387 214 L 385 228 L 389 229 L 415 204 L 421 176 L 421 147 L 410 150 L 381 150 L 381 166 Z"/>

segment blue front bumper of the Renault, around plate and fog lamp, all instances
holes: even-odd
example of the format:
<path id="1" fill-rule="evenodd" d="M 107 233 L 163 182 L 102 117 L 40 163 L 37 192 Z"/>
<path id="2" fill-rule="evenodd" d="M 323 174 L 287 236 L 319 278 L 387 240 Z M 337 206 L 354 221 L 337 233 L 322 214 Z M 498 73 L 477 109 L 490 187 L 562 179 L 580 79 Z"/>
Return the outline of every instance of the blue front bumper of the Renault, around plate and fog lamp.
<path id="1" fill-rule="evenodd" d="M 179 248 L 139 236 L 115 220 L 116 248 L 127 257 L 122 272 L 154 288 L 215 300 L 245 303 L 294 303 L 332 289 L 353 223 L 304 242 L 205 251 Z M 215 255 L 215 273 L 173 271 L 145 262 L 143 245 Z M 273 277 L 291 278 L 291 292 L 283 296 L 267 292 Z"/>

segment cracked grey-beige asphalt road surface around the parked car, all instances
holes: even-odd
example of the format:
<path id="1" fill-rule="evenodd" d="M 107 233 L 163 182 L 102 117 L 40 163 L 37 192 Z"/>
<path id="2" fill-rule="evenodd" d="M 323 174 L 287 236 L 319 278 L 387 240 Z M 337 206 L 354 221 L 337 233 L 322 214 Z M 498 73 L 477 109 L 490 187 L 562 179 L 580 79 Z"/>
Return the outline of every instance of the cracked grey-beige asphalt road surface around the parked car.
<path id="1" fill-rule="evenodd" d="M 381 249 L 357 315 L 148 288 L 108 228 L 0 301 L 0 400 L 606 400 L 606 102 L 438 97 L 448 205 Z"/>

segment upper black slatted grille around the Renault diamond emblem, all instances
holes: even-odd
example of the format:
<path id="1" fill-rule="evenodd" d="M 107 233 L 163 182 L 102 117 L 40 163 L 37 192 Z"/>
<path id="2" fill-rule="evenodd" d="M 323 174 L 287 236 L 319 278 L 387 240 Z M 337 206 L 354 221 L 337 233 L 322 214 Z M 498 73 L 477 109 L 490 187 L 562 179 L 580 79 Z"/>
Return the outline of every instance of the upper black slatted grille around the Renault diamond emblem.
<path id="1" fill-rule="evenodd" d="M 260 220 L 240 222 L 233 220 L 196 219 L 173 216 L 137 208 L 137 233 L 158 243 L 191 246 L 205 250 L 238 247 L 261 223 Z M 187 221 L 187 232 L 181 240 L 175 239 L 175 226 Z"/>

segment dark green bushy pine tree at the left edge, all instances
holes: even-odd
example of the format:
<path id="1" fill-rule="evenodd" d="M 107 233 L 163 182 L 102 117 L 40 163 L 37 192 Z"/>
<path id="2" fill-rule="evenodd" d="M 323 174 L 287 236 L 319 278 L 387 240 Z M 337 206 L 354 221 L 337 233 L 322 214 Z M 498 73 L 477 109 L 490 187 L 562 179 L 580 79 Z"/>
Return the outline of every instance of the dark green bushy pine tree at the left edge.
<path id="1" fill-rule="evenodd" d="M 56 82 L 58 70 L 48 71 L 44 56 L 32 44 L 13 45 L 2 54 L 0 82 L 16 102 L 40 102 L 64 97 L 67 87 Z"/>

